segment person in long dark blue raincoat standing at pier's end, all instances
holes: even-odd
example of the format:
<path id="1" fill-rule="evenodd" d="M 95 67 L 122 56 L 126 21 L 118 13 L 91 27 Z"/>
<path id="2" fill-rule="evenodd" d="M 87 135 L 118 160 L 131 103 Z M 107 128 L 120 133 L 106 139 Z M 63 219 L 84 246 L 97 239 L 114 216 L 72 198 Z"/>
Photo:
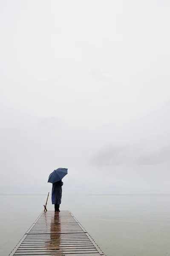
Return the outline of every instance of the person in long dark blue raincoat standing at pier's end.
<path id="1" fill-rule="evenodd" d="M 60 212 L 61 196 L 62 196 L 62 180 L 52 184 L 52 204 L 55 205 L 55 212 Z"/>

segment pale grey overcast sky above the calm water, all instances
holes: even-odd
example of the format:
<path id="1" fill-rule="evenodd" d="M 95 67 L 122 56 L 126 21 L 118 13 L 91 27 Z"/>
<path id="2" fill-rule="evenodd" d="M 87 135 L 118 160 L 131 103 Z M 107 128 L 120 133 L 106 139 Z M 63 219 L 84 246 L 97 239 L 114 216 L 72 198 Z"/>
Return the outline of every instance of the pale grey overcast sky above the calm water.
<path id="1" fill-rule="evenodd" d="M 170 1 L 0 1 L 0 193 L 170 193 Z"/>

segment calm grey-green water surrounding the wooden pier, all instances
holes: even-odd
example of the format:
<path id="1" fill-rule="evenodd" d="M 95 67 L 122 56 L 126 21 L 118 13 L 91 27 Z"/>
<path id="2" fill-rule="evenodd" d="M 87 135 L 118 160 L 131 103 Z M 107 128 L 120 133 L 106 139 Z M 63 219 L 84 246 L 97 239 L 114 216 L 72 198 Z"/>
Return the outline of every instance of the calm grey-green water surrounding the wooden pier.
<path id="1" fill-rule="evenodd" d="M 46 195 L 0 195 L 0 256 L 9 255 L 45 201 Z M 170 195 L 63 194 L 61 209 L 75 215 L 107 256 L 170 256 Z"/>

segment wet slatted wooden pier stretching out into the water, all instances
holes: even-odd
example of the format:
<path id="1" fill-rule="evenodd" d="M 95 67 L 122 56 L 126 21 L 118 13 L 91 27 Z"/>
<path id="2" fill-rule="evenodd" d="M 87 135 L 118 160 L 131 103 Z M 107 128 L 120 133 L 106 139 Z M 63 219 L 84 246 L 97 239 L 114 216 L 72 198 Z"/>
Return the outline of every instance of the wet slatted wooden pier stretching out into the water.
<path id="1" fill-rule="evenodd" d="M 104 256 L 69 211 L 43 212 L 9 256 Z"/>

